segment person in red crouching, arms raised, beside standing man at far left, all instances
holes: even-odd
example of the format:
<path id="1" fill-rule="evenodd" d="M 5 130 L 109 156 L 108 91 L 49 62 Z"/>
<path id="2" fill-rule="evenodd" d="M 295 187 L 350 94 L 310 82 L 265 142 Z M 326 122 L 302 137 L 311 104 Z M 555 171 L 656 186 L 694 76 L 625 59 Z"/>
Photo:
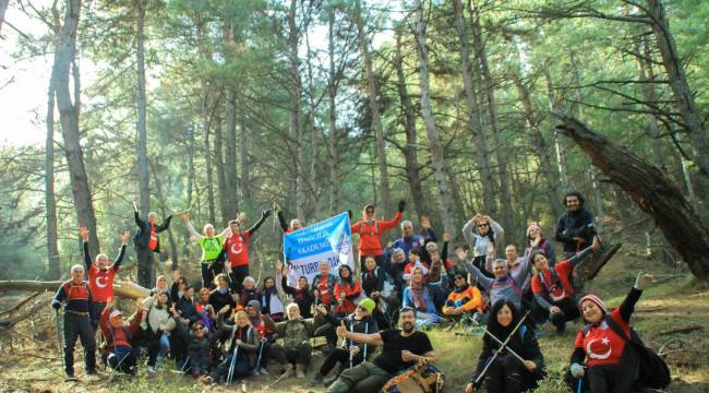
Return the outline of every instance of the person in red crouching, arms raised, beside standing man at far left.
<path id="1" fill-rule="evenodd" d="M 133 347 L 131 341 L 143 320 L 143 311 L 145 311 L 143 299 L 135 300 L 136 312 L 130 324 L 123 322 L 123 312 L 118 309 L 112 310 L 112 307 L 113 301 L 108 300 L 99 320 L 106 343 L 105 360 L 113 370 L 135 374 L 135 362 L 140 348 Z"/>

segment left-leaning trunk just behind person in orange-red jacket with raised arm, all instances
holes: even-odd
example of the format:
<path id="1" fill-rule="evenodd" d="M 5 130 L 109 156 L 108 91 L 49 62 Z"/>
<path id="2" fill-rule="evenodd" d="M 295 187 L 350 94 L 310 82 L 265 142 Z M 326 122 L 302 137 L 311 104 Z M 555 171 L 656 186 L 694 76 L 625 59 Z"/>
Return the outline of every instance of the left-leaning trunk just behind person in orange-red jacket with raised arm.
<path id="1" fill-rule="evenodd" d="M 380 192 L 382 202 L 380 210 L 388 216 L 392 212 L 389 203 L 389 175 L 386 166 L 386 152 L 384 150 L 384 129 L 382 128 L 382 115 L 378 104 L 378 87 L 376 85 L 376 75 L 374 75 L 374 64 L 372 53 L 370 52 L 366 32 L 364 32 L 364 21 L 362 20 L 362 2 L 354 1 L 354 24 L 357 25 L 357 38 L 360 46 L 360 52 L 364 60 L 364 78 L 366 79 L 370 110 L 372 111 L 372 129 L 376 139 L 376 155 L 380 164 Z"/>

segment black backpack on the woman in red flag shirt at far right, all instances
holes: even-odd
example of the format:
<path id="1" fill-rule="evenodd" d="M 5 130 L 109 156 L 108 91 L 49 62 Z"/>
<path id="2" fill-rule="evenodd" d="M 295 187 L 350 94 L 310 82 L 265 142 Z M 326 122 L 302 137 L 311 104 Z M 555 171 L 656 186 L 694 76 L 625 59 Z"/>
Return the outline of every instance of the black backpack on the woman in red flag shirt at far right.
<path id="1" fill-rule="evenodd" d="M 625 340 L 626 345 L 623 356 L 626 355 L 625 350 L 632 350 L 632 355 L 637 358 L 638 378 L 634 382 L 636 389 L 664 389 L 672 382 L 672 374 L 668 364 L 654 350 L 645 345 L 633 327 L 629 327 L 630 336 L 628 337 L 609 315 L 605 317 L 605 323 L 615 334 Z M 588 334 L 590 326 L 584 327 L 584 336 Z"/>

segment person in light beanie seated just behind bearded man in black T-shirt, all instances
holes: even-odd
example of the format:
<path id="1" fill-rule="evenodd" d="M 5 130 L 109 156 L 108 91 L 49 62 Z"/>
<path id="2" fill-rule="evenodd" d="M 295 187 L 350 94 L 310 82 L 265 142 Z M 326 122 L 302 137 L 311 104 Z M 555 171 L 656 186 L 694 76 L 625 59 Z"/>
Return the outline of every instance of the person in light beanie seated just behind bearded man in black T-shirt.
<path id="1" fill-rule="evenodd" d="M 340 322 L 344 321 L 348 331 L 369 334 L 380 331 L 376 320 L 372 317 L 372 312 L 374 311 L 376 303 L 374 300 L 371 298 L 364 298 L 359 302 L 354 309 L 354 312 L 345 318 L 336 318 L 331 315 L 327 312 L 327 309 L 323 306 L 317 306 L 316 310 L 332 326 L 339 326 Z M 339 373 L 343 372 L 345 368 L 357 366 L 366 360 L 366 358 L 369 358 L 369 356 L 374 353 L 374 349 L 376 348 L 372 345 L 368 347 L 366 344 L 353 344 L 352 342 L 348 342 L 346 340 L 343 348 L 334 348 L 329 352 L 325 358 L 325 361 L 323 362 L 323 366 L 321 366 L 320 370 L 315 373 L 312 385 L 320 385 L 323 382 L 325 384 L 331 384 L 337 379 Z M 327 374 L 335 368 L 338 362 L 340 365 L 339 370 L 335 373 L 335 376 L 325 379 L 325 377 L 327 377 Z"/>

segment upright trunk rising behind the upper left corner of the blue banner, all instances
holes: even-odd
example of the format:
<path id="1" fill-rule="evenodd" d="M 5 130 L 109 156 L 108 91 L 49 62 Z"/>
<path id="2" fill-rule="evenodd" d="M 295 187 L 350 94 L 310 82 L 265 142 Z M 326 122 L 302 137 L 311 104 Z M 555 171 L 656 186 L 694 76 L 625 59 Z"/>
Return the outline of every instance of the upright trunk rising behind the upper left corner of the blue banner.
<path id="1" fill-rule="evenodd" d="M 303 217 L 305 184 L 303 168 L 303 124 L 300 108 L 300 96 L 302 83 L 300 80 L 300 59 L 298 58 L 298 46 L 300 41 L 300 29 L 296 16 L 298 0 L 290 0 L 290 12 L 288 13 L 288 47 L 290 58 L 290 136 L 296 141 L 296 214 Z"/>

